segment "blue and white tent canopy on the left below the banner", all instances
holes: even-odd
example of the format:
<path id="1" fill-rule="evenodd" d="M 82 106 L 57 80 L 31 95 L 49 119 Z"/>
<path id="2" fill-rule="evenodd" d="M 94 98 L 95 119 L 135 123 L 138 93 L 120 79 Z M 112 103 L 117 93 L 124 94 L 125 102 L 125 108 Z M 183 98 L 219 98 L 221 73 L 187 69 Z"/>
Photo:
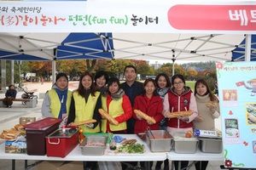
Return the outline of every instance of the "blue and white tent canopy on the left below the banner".
<path id="1" fill-rule="evenodd" d="M 0 59 L 113 59 L 112 33 L 0 33 Z"/>

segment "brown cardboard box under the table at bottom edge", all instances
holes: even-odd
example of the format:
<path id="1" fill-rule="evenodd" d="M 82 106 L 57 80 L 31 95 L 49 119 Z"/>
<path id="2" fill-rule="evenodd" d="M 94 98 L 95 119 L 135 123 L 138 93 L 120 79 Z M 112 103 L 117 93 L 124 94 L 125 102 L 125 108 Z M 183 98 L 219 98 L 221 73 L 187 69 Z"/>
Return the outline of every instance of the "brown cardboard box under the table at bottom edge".
<path id="1" fill-rule="evenodd" d="M 43 161 L 35 168 L 36 170 L 84 170 L 84 161 Z"/>

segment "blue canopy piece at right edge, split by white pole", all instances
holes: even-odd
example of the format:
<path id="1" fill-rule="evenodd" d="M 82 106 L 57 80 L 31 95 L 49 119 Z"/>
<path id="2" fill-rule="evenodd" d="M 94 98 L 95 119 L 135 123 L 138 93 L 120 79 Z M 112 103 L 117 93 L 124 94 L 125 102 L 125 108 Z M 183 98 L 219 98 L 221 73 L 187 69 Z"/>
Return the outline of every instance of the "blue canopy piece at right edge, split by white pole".
<path id="1" fill-rule="evenodd" d="M 244 39 L 237 48 L 232 51 L 232 61 L 245 60 L 246 39 Z M 251 43 L 251 61 L 256 61 L 256 35 L 252 35 Z"/>

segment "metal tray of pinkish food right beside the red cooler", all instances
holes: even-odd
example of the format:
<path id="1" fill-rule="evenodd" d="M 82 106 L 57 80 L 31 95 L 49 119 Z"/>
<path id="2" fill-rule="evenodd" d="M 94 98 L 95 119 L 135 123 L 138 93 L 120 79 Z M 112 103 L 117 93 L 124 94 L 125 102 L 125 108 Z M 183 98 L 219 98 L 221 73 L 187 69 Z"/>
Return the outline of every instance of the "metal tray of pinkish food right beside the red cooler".
<path id="1" fill-rule="evenodd" d="M 80 144 L 82 155 L 84 156 L 102 156 L 106 149 L 108 137 L 106 136 L 89 136 L 85 137 Z"/>

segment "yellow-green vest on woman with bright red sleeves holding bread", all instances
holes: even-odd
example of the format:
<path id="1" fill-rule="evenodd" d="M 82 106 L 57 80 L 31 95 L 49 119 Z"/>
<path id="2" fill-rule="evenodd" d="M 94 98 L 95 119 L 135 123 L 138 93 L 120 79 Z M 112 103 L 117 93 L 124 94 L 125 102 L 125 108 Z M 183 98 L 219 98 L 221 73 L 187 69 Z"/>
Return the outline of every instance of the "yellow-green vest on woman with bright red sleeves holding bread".
<path id="1" fill-rule="evenodd" d="M 104 111 L 108 111 L 108 114 L 110 116 L 117 117 L 121 116 L 125 113 L 123 110 L 123 98 L 120 98 L 119 100 L 112 100 L 109 104 L 109 107 L 107 108 L 107 98 L 102 96 L 102 109 Z M 120 131 L 120 130 L 126 130 L 126 122 L 119 123 L 118 126 L 109 124 L 109 128 L 111 131 Z M 102 119 L 102 133 L 106 133 L 107 131 L 107 119 Z"/>

